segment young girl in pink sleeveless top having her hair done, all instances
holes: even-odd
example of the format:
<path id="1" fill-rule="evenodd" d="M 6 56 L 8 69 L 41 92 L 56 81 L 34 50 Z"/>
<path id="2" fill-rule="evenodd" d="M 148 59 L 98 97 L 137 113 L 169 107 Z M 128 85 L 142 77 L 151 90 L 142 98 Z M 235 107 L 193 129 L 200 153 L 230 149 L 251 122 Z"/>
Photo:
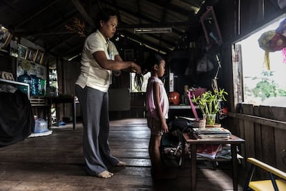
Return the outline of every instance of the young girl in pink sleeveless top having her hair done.
<path id="1" fill-rule="evenodd" d="M 160 143 L 162 134 L 168 132 L 169 100 L 163 82 L 159 79 L 164 75 L 165 61 L 160 55 L 150 55 L 145 65 L 146 71 L 151 71 L 146 89 L 146 116 L 151 129 L 149 155 L 152 165 L 152 175 L 155 179 L 172 179 L 174 174 L 164 170 L 160 158 Z"/>

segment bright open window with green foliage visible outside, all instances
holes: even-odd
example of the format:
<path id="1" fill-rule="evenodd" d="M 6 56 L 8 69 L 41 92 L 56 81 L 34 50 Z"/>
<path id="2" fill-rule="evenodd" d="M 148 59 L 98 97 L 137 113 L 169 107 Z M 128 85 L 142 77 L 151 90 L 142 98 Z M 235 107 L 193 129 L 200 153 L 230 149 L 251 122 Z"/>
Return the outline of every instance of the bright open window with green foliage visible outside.
<path id="1" fill-rule="evenodd" d="M 238 95 L 238 102 L 286 107 L 286 61 L 283 61 L 283 51 L 269 53 L 268 70 L 264 64 L 265 51 L 258 44 L 260 36 L 266 31 L 276 30 L 283 19 L 272 22 L 233 46 L 233 69 L 236 70 L 233 76 L 242 75 L 242 80 L 239 77 L 234 80 L 238 92 L 243 89 L 243 97 Z"/>

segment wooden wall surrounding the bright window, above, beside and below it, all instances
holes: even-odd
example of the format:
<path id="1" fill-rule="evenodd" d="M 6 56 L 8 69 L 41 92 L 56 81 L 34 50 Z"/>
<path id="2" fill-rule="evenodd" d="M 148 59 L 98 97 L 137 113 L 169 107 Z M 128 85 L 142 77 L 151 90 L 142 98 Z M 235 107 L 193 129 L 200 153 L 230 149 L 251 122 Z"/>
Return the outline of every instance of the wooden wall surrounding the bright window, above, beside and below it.
<path id="1" fill-rule="evenodd" d="M 227 9 L 226 9 L 227 7 Z M 224 44 L 221 47 L 220 87 L 229 92 L 229 113 L 223 121 L 233 134 L 245 138 L 242 155 L 255 157 L 286 171 L 286 108 L 253 106 L 239 103 L 233 88 L 231 45 L 269 21 L 285 14 L 277 1 L 220 1 L 214 7 Z M 283 161 L 284 160 L 284 161 Z"/>

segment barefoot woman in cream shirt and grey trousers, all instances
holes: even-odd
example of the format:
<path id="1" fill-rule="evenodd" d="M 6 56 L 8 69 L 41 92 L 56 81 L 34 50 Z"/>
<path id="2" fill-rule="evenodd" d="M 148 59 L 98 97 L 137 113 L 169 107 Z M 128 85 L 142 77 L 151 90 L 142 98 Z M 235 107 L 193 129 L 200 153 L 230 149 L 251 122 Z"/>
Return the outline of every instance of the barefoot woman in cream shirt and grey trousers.
<path id="1" fill-rule="evenodd" d="M 81 73 L 75 82 L 75 93 L 82 108 L 83 150 L 87 172 L 100 178 L 113 176 L 113 173 L 108 171 L 111 167 L 126 165 L 111 156 L 108 145 L 108 87 L 111 84 L 111 73 L 122 69 L 141 73 L 139 65 L 122 61 L 117 48 L 110 41 L 117 24 L 115 12 L 99 11 L 95 21 L 97 30 L 84 42 Z"/>

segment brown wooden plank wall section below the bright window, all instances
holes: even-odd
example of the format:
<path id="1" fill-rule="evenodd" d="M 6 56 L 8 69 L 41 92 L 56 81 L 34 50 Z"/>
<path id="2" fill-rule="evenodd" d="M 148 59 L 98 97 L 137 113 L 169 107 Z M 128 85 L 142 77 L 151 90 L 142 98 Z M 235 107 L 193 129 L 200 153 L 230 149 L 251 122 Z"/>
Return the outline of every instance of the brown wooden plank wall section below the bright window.
<path id="1" fill-rule="evenodd" d="M 223 122 L 233 134 L 245 139 L 242 155 L 258 158 L 286 171 L 286 108 L 240 104 Z"/>

